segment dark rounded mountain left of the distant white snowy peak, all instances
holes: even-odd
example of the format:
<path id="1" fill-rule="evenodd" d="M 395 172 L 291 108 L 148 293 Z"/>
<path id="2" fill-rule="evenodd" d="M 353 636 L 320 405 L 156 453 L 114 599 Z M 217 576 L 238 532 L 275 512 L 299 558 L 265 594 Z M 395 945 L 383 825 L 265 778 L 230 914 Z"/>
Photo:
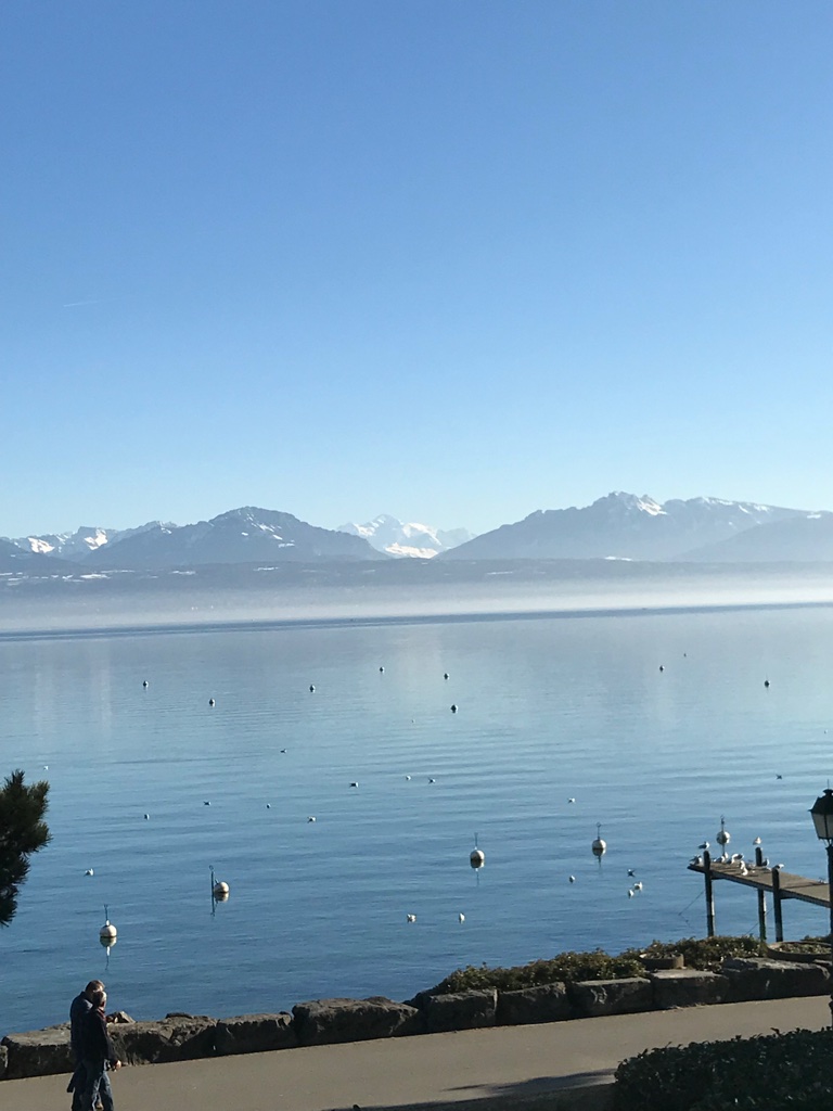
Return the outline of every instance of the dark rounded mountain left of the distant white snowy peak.
<path id="1" fill-rule="evenodd" d="M 210 521 L 154 524 L 91 552 L 87 565 L 148 569 L 208 563 L 383 559 L 360 537 L 319 529 L 291 513 L 247 506 Z"/>

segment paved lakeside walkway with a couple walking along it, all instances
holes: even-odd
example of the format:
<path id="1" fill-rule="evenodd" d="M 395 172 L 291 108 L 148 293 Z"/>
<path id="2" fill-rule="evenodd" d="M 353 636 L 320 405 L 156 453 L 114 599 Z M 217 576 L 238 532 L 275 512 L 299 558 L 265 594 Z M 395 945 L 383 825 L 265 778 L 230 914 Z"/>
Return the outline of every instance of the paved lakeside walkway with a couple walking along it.
<path id="1" fill-rule="evenodd" d="M 604 1084 L 621 1060 L 644 1049 L 829 1022 L 824 997 L 724 1003 L 124 1068 L 113 1077 L 113 1094 L 117 1111 L 330 1111 L 469 1100 L 514 1107 L 535 1097 L 555 1108 L 554 1093 Z M 0 1081 L 0 1108 L 69 1109 L 67 1080 Z M 603 1095 L 596 1089 L 570 1101 L 602 1107 Z"/>

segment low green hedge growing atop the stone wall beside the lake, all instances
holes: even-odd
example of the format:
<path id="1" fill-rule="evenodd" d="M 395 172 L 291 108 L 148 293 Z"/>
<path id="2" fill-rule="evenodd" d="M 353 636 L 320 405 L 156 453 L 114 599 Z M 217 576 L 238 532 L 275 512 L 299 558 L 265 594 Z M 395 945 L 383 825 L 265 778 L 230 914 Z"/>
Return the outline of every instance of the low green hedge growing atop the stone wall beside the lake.
<path id="1" fill-rule="evenodd" d="M 601 949 L 584 953 L 559 953 L 549 960 L 532 961 L 514 968 L 490 968 L 486 964 L 458 969 L 441 980 L 430 994 L 476 991 L 498 988 L 518 991 L 545 983 L 576 983 L 581 980 L 622 980 L 645 974 L 645 958 L 683 957 L 685 967 L 716 971 L 726 957 L 763 957 L 765 947 L 754 938 L 683 938 L 682 941 L 652 941 L 646 949 L 628 949 L 611 957 Z"/>

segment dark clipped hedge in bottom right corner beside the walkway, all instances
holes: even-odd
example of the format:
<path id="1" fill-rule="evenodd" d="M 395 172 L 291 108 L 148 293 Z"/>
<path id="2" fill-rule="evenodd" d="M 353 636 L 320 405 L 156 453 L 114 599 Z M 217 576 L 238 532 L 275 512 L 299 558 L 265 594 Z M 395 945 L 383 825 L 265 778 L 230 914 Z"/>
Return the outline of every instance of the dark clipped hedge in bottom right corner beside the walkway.
<path id="1" fill-rule="evenodd" d="M 648 1050 L 616 1069 L 614 1111 L 820 1111 L 833 1107 L 833 1030 Z"/>

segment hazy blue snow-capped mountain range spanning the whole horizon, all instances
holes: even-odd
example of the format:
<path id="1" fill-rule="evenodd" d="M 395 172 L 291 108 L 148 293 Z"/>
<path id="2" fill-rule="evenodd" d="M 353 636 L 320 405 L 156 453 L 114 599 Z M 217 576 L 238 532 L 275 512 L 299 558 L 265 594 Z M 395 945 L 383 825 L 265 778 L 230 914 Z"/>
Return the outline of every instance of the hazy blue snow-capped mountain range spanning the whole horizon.
<path id="1" fill-rule="evenodd" d="M 58 574 L 224 564 L 388 561 L 634 560 L 685 563 L 833 561 L 833 513 L 717 498 L 614 492 L 582 509 L 539 510 L 471 538 L 382 514 L 323 529 L 291 513 L 244 507 L 210 521 L 138 528 L 81 528 L 0 540 L 0 571 Z M 403 562 L 401 559 L 397 562 Z M 404 562 L 412 562 L 404 560 Z"/>

